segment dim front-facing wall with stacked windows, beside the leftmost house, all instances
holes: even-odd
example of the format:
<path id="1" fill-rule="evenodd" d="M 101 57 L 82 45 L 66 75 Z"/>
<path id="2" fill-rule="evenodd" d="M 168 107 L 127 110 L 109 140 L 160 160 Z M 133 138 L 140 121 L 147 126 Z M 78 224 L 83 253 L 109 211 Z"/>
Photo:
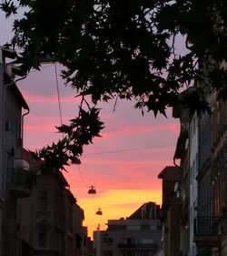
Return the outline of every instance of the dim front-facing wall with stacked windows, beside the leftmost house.
<path id="1" fill-rule="evenodd" d="M 57 175 L 38 175 L 32 195 L 20 200 L 22 239 L 35 248 L 37 255 L 64 255 L 63 191 L 64 184 Z"/>

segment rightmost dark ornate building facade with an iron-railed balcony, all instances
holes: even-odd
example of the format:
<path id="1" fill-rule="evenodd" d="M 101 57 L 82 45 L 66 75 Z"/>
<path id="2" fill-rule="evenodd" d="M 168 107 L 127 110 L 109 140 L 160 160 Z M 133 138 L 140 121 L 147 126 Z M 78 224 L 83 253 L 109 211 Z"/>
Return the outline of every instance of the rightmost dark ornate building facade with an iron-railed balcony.
<path id="1" fill-rule="evenodd" d="M 199 123 L 199 196 L 194 241 L 198 255 L 227 253 L 227 105 L 215 92 L 209 97 L 212 115 Z M 204 147 L 202 147 L 204 146 Z"/>

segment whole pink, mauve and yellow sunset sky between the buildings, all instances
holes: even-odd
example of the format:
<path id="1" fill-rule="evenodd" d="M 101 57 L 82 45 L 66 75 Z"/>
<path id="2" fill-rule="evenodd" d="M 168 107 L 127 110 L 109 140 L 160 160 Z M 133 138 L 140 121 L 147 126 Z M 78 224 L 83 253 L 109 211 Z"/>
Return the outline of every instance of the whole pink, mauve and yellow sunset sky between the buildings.
<path id="1" fill-rule="evenodd" d="M 2 45 L 10 36 L 8 22 L 1 23 L 0 30 L 4 31 Z M 59 75 L 58 67 L 63 123 L 67 124 L 76 116 L 78 102 L 73 89 L 64 87 Z M 18 87 L 31 109 L 25 116 L 24 147 L 38 149 L 61 138 L 54 128 L 61 124 L 54 65 L 31 72 Z M 171 118 L 171 109 L 169 118 L 154 118 L 153 113 L 142 117 L 140 110 L 133 109 L 133 102 L 119 101 L 116 111 L 114 102 L 100 107 L 105 123 L 103 138 L 95 138 L 94 145 L 84 148 L 80 166 L 64 172 L 77 203 L 84 209 L 84 225 L 90 235 L 99 223 L 105 229 L 107 220 L 127 217 L 144 202 L 161 204 L 162 180 L 157 175 L 166 165 L 173 165 L 179 135 L 179 122 Z M 87 193 L 91 185 L 96 195 Z M 103 210 L 102 216 L 95 214 L 98 208 Z"/>

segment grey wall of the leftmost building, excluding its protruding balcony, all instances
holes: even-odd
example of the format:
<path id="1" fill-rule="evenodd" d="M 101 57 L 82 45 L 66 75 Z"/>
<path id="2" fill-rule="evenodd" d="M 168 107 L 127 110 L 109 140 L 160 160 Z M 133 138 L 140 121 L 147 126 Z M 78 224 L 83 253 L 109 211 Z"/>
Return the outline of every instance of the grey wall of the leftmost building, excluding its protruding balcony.
<path id="1" fill-rule="evenodd" d="M 22 158 L 20 143 L 22 108 L 28 107 L 15 86 L 13 76 L 11 77 L 13 74 L 7 74 L 5 71 L 7 51 L 10 52 L 9 57 L 16 56 L 14 50 L 0 47 L 0 197 L 5 200 L 1 226 L 3 227 L 3 254 L 17 256 L 21 252 L 21 240 L 20 231 L 16 225 L 16 205 L 17 199 L 22 195 L 15 188 L 15 159 Z"/>

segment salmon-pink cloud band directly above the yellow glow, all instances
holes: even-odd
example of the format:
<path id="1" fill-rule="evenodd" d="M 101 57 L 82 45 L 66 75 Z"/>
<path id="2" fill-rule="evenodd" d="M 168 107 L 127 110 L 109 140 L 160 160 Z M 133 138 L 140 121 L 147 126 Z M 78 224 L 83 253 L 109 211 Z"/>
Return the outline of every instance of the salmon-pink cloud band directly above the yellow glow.
<path id="1" fill-rule="evenodd" d="M 144 189 L 151 187 L 154 189 L 161 189 L 161 181 L 157 179 L 158 173 L 163 169 L 165 165 L 170 165 L 171 162 L 154 163 L 154 165 L 148 166 L 134 166 L 131 165 L 114 165 L 113 168 L 108 167 L 104 163 L 104 169 L 94 165 L 92 167 L 82 165 L 80 173 L 78 167 L 68 169 L 67 174 L 70 177 L 71 184 L 81 184 L 81 186 L 89 187 L 92 184 L 95 185 L 99 191 L 108 190 L 112 188 L 118 189 Z"/>

